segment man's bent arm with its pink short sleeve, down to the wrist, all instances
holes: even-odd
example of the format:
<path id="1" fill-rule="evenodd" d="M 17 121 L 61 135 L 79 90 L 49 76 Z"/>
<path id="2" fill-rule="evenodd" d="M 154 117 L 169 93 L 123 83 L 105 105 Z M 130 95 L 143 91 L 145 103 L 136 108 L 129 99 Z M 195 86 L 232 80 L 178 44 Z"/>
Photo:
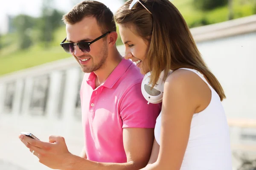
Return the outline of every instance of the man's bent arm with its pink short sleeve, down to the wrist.
<path id="1" fill-rule="evenodd" d="M 160 113 L 160 107 L 148 105 L 140 88 L 140 83 L 134 85 L 125 94 L 120 105 L 123 146 L 127 162 L 101 163 L 74 157 L 69 166 L 72 168 L 67 170 L 139 170 L 147 165 L 154 141 L 154 123 Z M 134 96 L 137 100 L 131 100 Z"/>

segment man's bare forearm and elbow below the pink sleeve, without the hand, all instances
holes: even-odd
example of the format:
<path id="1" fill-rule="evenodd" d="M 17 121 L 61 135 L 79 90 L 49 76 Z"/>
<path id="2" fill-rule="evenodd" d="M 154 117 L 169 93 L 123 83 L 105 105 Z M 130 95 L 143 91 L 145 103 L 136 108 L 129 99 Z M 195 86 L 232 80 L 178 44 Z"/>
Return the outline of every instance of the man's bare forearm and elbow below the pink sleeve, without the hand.
<path id="1" fill-rule="evenodd" d="M 148 163 L 154 139 L 152 128 L 124 128 L 127 163 L 100 163 L 73 156 L 66 170 L 138 170 Z"/>

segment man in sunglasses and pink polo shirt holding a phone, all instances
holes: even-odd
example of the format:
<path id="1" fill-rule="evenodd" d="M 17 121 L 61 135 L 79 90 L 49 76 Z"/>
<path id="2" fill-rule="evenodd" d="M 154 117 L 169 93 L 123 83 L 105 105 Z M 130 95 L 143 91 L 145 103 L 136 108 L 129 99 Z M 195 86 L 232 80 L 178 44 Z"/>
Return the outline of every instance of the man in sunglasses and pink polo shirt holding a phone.
<path id="1" fill-rule="evenodd" d="M 71 154 L 61 136 L 49 142 L 20 135 L 42 164 L 61 170 L 138 170 L 145 167 L 160 105 L 147 104 L 143 76 L 116 49 L 116 26 L 109 8 L 83 1 L 65 14 L 67 42 L 61 43 L 85 72 L 81 85 L 84 151 Z M 90 42 L 90 43 L 88 43 Z"/>

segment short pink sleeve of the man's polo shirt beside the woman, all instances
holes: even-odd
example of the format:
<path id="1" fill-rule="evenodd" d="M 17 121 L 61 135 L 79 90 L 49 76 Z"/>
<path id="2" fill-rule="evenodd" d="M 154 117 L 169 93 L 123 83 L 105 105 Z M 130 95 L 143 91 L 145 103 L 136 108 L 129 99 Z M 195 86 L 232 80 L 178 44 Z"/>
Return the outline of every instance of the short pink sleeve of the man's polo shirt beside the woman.
<path id="1" fill-rule="evenodd" d="M 122 127 L 154 128 L 161 104 L 152 104 L 145 100 L 141 92 L 141 83 L 134 85 L 125 94 L 120 105 Z"/>

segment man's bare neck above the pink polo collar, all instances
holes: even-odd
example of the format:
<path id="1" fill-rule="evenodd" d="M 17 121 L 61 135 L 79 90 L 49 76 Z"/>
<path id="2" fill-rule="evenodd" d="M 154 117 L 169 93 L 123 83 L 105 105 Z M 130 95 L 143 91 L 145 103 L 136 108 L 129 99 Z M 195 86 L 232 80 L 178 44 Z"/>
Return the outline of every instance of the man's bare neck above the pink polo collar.
<path id="1" fill-rule="evenodd" d="M 99 70 L 94 71 L 96 75 L 95 86 L 96 88 L 104 83 L 116 66 L 121 62 L 122 56 L 119 54 L 117 49 L 112 53 L 108 54 L 108 59 L 106 60 L 104 66 Z"/>

